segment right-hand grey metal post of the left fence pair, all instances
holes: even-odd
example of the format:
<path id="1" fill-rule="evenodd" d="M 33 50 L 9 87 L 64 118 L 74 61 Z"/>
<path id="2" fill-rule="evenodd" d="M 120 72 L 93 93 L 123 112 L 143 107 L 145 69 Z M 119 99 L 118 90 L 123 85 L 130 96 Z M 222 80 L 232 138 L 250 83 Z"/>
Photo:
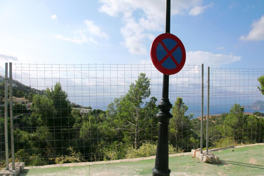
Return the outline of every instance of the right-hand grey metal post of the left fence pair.
<path id="1" fill-rule="evenodd" d="M 13 89 L 12 89 L 12 62 L 9 63 L 9 97 L 10 97 L 10 134 L 11 134 L 11 157 L 12 170 L 15 170 L 14 126 L 13 126 Z"/>

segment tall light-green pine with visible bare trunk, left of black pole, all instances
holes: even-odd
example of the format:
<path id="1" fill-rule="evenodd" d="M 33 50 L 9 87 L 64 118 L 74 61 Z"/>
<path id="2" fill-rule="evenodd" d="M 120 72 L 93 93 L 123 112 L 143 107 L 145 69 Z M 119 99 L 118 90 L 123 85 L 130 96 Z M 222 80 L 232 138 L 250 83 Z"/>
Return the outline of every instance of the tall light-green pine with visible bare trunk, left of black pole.
<path id="1" fill-rule="evenodd" d="M 144 114 L 141 114 L 140 110 L 143 105 L 142 100 L 150 95 L 149 85 L 150 79 L 146 74 L 140 73 L 135 83 L 129 86 L 128 93 L 115 100 L 117 118 L 120 118 L 118 130 L 123 130 L 124 140 L 129 140 L 131 135 L 134 136 L 134 148 L 138 147 L 139 132 L 143 130 L 140 123 L 143 123 L 141 117 Z"/>

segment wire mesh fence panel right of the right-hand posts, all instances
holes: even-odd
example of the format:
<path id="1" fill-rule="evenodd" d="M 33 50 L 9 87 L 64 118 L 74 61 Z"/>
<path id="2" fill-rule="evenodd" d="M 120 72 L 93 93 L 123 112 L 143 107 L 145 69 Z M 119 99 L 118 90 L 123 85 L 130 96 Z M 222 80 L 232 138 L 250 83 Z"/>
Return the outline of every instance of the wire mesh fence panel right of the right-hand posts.
<path id="1" fill-rule="evenodd" d="M 221 148 L 264 142 L 263 69 L 210 68 L 209 144 Z"/>

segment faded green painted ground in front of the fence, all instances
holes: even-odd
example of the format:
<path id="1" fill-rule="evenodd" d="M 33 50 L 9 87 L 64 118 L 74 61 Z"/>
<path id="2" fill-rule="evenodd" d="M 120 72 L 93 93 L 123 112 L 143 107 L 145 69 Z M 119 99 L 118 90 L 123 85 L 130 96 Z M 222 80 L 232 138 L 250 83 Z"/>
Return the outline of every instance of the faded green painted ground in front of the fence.
<path id="1" fill-rule="evenodd" d="M 222 163 L 199 162 L 191 155 L 169 158 L 171 175 L 264 175 L 264 145 L 214 152 Z M 95 164 L 76 167 L 24 169 L 21 175 L 152 175 L 155 160 Z"/>

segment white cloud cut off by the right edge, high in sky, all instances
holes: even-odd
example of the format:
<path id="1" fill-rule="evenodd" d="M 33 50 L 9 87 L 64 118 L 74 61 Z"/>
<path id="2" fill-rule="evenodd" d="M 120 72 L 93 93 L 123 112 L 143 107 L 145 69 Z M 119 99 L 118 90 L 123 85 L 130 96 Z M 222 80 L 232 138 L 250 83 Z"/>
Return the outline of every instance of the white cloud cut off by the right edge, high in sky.
<path id="1" fill-rule="evenodd" d="M 252 29 L 249 31 L 247 36 L 242 35 L 239 37 L 240 40 L 264 40 L 264 15 L 258 20 L 254 20 L 252 25 Z"/>

